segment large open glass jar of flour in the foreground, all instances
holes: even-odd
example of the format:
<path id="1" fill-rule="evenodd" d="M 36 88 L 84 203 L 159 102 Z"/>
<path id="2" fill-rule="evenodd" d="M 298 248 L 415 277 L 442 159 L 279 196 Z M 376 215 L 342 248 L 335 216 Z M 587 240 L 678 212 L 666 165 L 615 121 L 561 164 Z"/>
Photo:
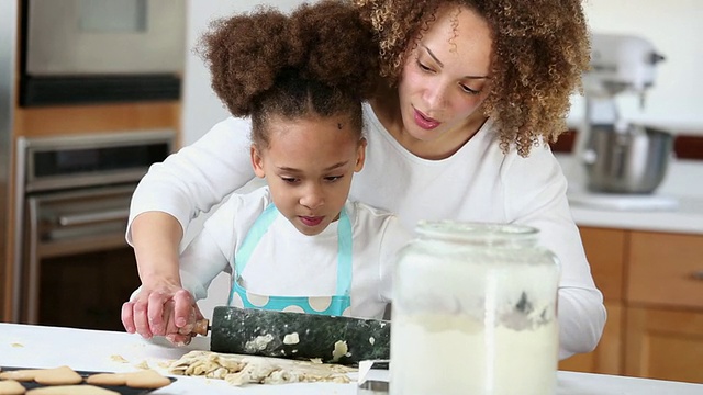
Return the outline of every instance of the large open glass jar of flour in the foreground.
<path id="1" fill-rule="evenodd" d="M 420 222 L 398 256 L 390 393 L 549 395 L 556 256 L 520 225 Z"/>

